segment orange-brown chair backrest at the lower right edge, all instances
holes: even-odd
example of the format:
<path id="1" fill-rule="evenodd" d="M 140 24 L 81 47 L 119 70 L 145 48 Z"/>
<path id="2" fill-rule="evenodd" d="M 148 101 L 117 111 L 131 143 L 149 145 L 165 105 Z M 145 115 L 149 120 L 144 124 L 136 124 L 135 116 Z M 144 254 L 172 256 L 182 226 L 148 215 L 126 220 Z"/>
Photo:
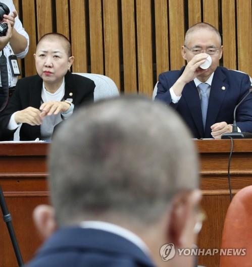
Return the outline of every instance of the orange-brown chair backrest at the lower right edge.
<path id="1" fill-rule="evenodd" d="M 241 189 L 232 199 L 225 218 L 221 248 L 246 249 L 245 255 L 221 255 L 220 267 L 252 264 L 252 186 Z M 238 253 L 238 252 L 237 252 Z"/>

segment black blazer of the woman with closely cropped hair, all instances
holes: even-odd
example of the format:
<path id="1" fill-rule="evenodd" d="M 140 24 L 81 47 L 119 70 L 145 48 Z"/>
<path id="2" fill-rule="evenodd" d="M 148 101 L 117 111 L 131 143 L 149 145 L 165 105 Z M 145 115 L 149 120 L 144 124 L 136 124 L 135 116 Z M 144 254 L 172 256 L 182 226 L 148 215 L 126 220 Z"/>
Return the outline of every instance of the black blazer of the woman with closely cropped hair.
<path id="1" fill-rule="evenodd" d="M 0 116 L 0 140 L 13 140 L 15 130 L 7 129 L 12 114 L 21 111 L 28 106 L 39 109 L 41 105 L 42 79 L 38 76 L 31 76 L 20 79 L 17 82 L 7 108 Z M 67 72 L 65 75 L 65 99 L 72 98 L 76 107 L 83 103 L 93 101 L 93 91 L 95 84 L 92 80 Z M 40 126 L 31 126 L 23 123 L 20 129 L 20 140 L 41 139 Z"/>

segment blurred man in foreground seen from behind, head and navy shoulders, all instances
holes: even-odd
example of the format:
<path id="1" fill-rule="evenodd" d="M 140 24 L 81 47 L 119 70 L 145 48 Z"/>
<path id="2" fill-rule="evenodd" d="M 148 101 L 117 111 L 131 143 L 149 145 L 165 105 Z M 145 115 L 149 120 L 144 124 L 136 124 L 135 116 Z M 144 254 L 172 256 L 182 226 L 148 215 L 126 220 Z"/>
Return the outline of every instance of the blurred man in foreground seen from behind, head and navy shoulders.
<path id="1" fill-rule="evenodd" d="M 177 253 L 165 261 L 195 243 L 200 192 L 193 141 L 162 103 L 80 109 L 51 145 L 49 188 L 53 207 L 34 212 L 47 241 L 28 266 L 193 266 Z"/>

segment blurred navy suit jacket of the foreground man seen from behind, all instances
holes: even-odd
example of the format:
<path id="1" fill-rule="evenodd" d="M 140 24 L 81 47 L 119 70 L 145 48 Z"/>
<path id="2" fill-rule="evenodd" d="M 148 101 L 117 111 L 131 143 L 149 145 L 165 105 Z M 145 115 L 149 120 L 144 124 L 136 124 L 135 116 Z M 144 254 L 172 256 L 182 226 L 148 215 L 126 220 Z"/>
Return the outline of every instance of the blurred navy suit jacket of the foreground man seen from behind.
<path id="1" fill-rule="evenodd" d="M 63 228 L 49 238 L 26 267 L 154 267 L 129 240 L 103 230 Z"/>

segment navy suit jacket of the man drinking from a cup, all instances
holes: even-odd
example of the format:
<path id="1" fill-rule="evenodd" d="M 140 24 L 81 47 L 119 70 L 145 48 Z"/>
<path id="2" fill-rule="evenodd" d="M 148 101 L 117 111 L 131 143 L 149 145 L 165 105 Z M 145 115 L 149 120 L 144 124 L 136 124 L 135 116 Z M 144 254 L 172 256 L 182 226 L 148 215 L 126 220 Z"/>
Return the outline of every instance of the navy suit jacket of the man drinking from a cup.
<path id="1" fill-rule="evenodd" d="M 244 97 L 250 87 L 249 76 L 237 71 L 217 67 L 212 81 L 206 129 L 204 132 L 200 99 L 194 81 L 187 83 L 178 103 L 171 99 L 170 88 L 184 71 L 169 71 L 160 74 L 156 99 L 174 108 L 184 119 L 195 138 L 212 138 L 211 126 L 217 122 L 233 123 L 235 105 Z M 237 126 L 242 132 L 252 133 L 252 94 L 236 111 Z"/>

